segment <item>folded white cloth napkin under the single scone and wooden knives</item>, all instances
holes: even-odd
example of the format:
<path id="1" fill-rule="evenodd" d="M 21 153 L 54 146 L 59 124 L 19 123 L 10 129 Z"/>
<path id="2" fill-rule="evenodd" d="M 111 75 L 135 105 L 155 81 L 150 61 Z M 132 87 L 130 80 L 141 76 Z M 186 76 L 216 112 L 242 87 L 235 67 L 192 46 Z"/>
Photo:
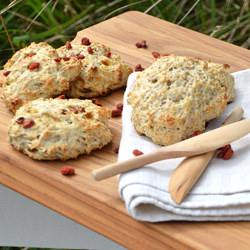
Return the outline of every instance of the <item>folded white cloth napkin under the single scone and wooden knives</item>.
<path id="1" fill-rule="evenodd" d="M 137 73 L 128 79 L 124 95 L 122 138 L 118 161 L 132 157 L 133 149 L 144 153 L 159 146 L 146 136 L 140 136 L 131 123 L 131 106 L 126 97 Z M 219 127 L 231 111 L 241 106 L 244 117 L 250 118 L 250 69 L 236 72 L 235 101 L 220 118 L 209 122 L 209 129 Z M 214 157 L 194 188 L 178 205 L 169 194 L 168 185 L 173 170 L 183 158 L 170 159 L 121 174 L 119 193 L 127 211 L 141 221 L 235 221 L 250 220 L 250 134 L 231 144 L 234 156 L 230 160 Z"/>

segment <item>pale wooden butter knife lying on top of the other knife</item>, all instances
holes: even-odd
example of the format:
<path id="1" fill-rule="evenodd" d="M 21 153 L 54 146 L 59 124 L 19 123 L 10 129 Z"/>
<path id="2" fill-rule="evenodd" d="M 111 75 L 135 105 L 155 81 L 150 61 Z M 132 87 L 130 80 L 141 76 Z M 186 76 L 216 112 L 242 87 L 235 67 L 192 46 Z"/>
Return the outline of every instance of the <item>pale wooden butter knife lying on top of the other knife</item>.
<path id="1" fill-rule="evenodd" d="M 143 167 L 152 162 L 203 154 L 236 141 L 249 132 L 250 119 L 245 119 L 170 146 L 158 148 L 150 153 L 94 170 L 92 171 L 92 176 L 95 180 L 103 180 L 117 174 Z"/>

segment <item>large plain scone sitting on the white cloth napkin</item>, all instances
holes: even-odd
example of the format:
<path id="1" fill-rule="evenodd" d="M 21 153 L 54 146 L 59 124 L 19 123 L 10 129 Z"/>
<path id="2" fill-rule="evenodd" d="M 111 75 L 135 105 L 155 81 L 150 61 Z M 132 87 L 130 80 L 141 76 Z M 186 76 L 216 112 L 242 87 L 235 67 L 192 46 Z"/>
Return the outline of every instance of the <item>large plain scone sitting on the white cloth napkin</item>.
<path id="1" fill-rule="evenodd" d="M 163 56 L 138 73 L 128 104 L 132 123 L 154 143 L 170 145 L 203 131 L 234 100 L 228 65 Z"/>

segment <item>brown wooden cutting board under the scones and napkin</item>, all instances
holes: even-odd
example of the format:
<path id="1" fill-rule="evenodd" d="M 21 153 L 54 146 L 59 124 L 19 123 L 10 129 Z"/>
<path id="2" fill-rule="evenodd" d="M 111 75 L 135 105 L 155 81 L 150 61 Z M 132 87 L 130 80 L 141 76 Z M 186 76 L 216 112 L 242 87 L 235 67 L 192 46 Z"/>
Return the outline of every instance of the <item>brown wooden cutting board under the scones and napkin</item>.
<path id="1" fill-rule="evenodd" d="M 140 12 L 127 12 L 77 33 L 73 42 L 89 37 L 110 46 L 133 68 L 149 66 L 151 52 L 173 53 L 226 63 L 235 72 L 250 68 L 250 51 L 168 23 Z M 146 40 L 147 49 L 135 43 Z M 99 98 L 114 109 L 123 90 Z M 12 114 L 0 102 L 0 183 L 126 246 L 129 249 L 247 249 L 249 222 L 143 223 L 127 213 L 118 195 L 116 177 L 96 182 L 91 171 L 117 160 L 121 118 L 112 118 L 113 142 L 77 160 L 34 161 L 14 150 L 6 140 Z M 62 176 L 62 166 L 71 165 L 76 175 Z"/>

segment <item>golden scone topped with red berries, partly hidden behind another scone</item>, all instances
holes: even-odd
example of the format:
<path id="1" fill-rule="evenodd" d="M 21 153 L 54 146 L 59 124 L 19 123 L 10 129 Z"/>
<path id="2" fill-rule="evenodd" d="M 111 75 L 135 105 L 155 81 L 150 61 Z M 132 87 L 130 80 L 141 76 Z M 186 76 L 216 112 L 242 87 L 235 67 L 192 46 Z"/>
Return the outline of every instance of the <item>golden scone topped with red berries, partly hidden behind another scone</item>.
<path id="1" fill-rule="evenodd" d="M 65 93 L 68 97 L 96 97 L 126 85 L 132 69 L 110 48 L 99 44 L 70 44 L 57 49 L 61 58 L 77 57 L 82 62 L 78 79 Z"/>

